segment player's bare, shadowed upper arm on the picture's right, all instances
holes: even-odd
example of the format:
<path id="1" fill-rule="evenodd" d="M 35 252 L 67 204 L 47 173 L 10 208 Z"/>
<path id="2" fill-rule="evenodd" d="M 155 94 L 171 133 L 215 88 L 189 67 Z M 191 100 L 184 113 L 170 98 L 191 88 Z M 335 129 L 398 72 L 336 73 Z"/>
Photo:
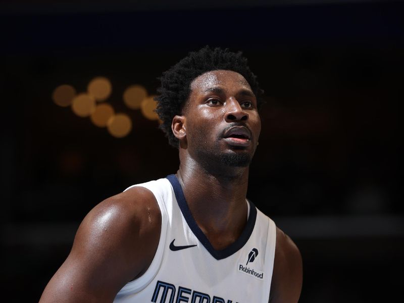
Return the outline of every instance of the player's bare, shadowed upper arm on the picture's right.
<path id="1" fill-rule="evenodd" d="M 277 228 L 269 303 L 296 303 L 300 296 L 302 279 L 299 249 L 282 230 Z"/>

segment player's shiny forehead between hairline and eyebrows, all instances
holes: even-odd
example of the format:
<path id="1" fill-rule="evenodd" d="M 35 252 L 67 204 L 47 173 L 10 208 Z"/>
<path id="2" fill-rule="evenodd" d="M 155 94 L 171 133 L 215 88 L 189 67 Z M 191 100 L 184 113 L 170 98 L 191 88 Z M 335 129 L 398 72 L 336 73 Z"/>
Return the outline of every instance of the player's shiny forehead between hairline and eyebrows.
<path id="1" fill-rule="evenodd" d="M 229 84 L 237 84 L 250 88 L 247 80 L 237 72 L 229 70 L 215 70 L 206 72 L 198 77 L 196 77 L 190 85 L 191 90 L 207 90 L 215 86 L 226 86 Z"/>

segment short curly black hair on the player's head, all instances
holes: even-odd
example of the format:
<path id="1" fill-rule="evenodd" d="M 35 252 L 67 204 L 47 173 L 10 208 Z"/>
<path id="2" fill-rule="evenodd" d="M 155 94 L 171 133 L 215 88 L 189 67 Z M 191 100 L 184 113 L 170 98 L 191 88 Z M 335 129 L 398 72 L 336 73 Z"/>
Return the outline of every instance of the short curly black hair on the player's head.
<path id="1" fill-rule="evenodd" d="M 162 121 L 160 128 L 172 146 L 178 147 L 178 139 L 171 130 L 171 123 L 174 116 L 182 114 L 191 92 L 191 82 L 196 77 L 215 70 L 230 70 L 242 75 L 257 98 L 258 108 L 264 103 L 262 99 L 264 91 L 259 87 L 256 75 L 249 69 L 247 59 L 241 52 L 233 53 L 228 48 L 211 48 L 208 45 L 197 52 L 191 52 L 163 73 L 160 78 L 161 87 L 157 90 L 159 96 L 155 98 L 156 113 Z"/>

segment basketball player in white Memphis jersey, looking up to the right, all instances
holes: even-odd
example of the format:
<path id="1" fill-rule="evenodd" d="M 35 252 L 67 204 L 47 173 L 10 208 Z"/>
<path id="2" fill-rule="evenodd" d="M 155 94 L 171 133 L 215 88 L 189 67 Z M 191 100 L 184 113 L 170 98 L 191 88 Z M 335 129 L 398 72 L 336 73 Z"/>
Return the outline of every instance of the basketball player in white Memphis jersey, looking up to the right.
<path id="1" fill-rule="evenodd" d="M 297 302 L 300 253 L 246 199 L 262 105 L 246 59 L 204 47 L 161 82 L 179 170 L 90 211 L 40 302 Z"/>

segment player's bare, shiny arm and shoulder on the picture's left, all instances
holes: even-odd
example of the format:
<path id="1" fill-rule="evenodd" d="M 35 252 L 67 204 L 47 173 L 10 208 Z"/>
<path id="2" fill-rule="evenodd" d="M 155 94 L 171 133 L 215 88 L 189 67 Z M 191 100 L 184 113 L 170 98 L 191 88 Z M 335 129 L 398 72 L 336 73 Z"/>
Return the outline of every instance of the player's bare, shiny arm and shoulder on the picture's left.
<path id="1" fill-rule="evenodd" d="M 40 298 L 45 302 L 112 302 L 143 274 L 157 250 L 161 212 L 148 189 L 134 187 L 98 204 Z"/>

